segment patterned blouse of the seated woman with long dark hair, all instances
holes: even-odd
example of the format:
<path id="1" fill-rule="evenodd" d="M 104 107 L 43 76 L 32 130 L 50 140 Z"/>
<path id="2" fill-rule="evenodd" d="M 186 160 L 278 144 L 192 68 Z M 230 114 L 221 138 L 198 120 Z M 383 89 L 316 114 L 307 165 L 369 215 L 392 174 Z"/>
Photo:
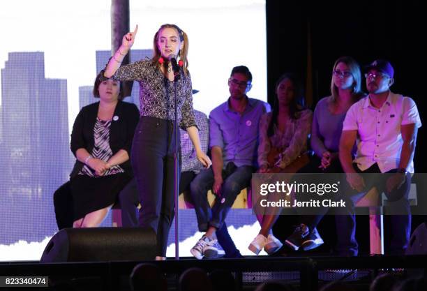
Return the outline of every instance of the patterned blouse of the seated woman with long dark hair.
<path id="1" fill-rule="evenodd" d="M 311 110 L 302 110 L 297 113 L 297 119 L 290 119 L 284 132 L 274 126 L 274 135 L 268 136 L 267 130 L 271 122 L 272 112 L 262 115 L 260 119 L 260 144 L 258 146 L 258 165 L 268 165 L 267 156 L 272 147 L 279 149 L 275 166 L 285 168 L 298 156 L 307 151 L 307 139 L 310 134 Z M 272 166 L 272 165 L 271 165 Z"/>

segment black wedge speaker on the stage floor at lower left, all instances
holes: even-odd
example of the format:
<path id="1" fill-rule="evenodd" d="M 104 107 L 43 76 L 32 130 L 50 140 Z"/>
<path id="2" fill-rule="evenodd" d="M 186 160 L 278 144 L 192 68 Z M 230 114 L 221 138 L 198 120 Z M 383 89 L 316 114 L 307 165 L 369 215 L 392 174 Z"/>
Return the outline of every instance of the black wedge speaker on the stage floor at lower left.
<path id="1" fill-rule="evenodd" d="M 40 262 L 140 261 L 156 258 L 156 234 L 142 227 L 64 228 Z"/>

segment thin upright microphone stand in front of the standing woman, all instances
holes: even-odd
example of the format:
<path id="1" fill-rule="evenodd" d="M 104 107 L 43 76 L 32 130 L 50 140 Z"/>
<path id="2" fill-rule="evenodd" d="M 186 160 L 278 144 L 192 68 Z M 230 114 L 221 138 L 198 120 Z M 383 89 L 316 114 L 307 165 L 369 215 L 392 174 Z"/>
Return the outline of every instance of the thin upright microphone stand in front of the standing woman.
<path id="1" fill-rule="evenodd" d="M 175 102 L 175 116 L 174 116 L 174 138 L 175 138 L 175 150 L 174 150 L 174 200 L 175 200 L 175 260 L 179 260 L 179 236 L 178 236 L 178 210 L 179 210 L 179 128 L 178 128 L 178 80 L 181 79 L 180 70 L 174 72 L 174 102 Z"/>

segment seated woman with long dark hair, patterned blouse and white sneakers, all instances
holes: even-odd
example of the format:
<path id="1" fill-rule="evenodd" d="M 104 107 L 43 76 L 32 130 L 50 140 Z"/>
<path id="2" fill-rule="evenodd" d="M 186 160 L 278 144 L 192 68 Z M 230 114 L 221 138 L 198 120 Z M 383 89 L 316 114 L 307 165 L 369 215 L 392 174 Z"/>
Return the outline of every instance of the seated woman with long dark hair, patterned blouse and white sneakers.
<path id="1" fill-rule="evenodd" d="M 258 165 L 260 173 L 294 173 L 308 163 L 307 138 L 313 114 L 298 105 L 301 86 L 291 73 L 282 75 L 276 82 L 276 101 L 273 111 L 260 120 L 260 145 Z M 283 244 L 274 237 L 271 227 L 277 215 L 257 214 L 261 230 L 250 243 L 249 250 L 258 254 L 264 248 L 269 255 L 278 251 Z"/>

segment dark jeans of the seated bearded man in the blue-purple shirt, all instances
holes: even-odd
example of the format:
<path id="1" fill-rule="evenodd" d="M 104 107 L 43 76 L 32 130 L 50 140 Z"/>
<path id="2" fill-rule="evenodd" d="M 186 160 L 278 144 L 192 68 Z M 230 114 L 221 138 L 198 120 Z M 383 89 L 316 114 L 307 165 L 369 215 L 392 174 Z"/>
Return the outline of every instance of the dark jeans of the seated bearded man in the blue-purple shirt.
<path id="1" fill-rule="evenodd" d="M 228 166 L 223 171 L 224 182 L 221 186 L 221 193 L 220 195 L 216 195 L 215 204 L 212 209 L 207 200 L 207 192 L 213 186 L 212 168 L 202 170 L 190 184 L 190 193 L 196 211 L 199 230 L 205 232 L 209 226 L 216 227 L 218 242 L 223 246 L 226 256 L 229 258 L 239 256 L 240 253 L 236 246 L 234 246 L 230 234 L 228 234 L 225 217 L 240 191 L 250 185 L 253 170 L 251 166 L 235 168 Z"/>

